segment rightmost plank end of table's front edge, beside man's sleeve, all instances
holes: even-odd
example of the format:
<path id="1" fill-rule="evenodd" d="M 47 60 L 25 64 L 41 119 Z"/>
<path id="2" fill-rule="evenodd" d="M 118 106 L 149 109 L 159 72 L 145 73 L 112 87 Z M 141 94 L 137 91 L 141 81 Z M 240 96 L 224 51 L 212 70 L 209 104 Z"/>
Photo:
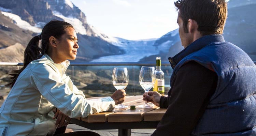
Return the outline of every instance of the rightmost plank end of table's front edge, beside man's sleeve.
<path id="1" fill-rule="evenodd" d="M 167 109 L 159 108 L 153 111 L 146 112 L 144 115 L 145 121 L 159 121 L 162 119 Z"/>

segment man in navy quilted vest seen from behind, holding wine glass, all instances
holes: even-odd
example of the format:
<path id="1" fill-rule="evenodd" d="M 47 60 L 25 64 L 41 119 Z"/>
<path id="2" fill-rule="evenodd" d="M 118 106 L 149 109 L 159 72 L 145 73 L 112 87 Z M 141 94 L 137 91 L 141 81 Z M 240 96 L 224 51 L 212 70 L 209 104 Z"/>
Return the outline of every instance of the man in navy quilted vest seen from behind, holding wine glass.
<path id="1" fill-rule="evenodd" d="M 222 36 L 225 0 L 178 0 L 184 50 L 169 58 L 168 97 L 143 95 L 168 108 L 153 136 L 256 136 L 256 66 Z"/>

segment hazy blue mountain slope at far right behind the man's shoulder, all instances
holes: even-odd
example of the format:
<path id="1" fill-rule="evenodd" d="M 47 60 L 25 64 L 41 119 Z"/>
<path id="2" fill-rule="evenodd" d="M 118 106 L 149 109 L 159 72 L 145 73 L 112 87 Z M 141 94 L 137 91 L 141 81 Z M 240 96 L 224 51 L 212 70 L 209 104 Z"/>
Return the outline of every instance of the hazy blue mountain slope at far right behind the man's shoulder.
<path id="1" fill-rule="evenodd" d="M 229 14 L 223 35 L 226 41 L 239 46 L 256 61 L 256 1 L 254 2 L 254 4 L 228 9 Z"/>

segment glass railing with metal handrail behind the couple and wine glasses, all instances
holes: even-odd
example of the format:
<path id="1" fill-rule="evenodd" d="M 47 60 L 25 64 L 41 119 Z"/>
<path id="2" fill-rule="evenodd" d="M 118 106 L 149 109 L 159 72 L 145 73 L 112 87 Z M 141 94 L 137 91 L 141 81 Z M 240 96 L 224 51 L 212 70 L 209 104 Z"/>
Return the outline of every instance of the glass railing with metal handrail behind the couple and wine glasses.
<path id="1" fill-rule="evenodd" d="M 254 62 L 256 64 L 256 62 Z M 149 65 L 146 65 L 149 64 Z M 8 92 L 9 87 L 4 85 L 10 82 L 10 69 L 19 69 L 22 63 L 0 62 L 0 90 Z M 112 84 L 112 72 L 114 67 L 127 67 L 129 73 L 129 84 L 127 95 L 142 95 L 144 90 L 139 84 L 139 73 L 141 66 L 154 66 L 155 62 L 142 63 L 71 63 L 66 75 L 70 76 L 74 85 L 82 90 L 86 97 L 110 96 L 116 89 Z M 170 89 L 170 77 L 172 68 L 169 62 L 162 62 L 161 70 L 165 73 L 165 94 Z M 152 89 L 151 89 L 152 90 Z"/>

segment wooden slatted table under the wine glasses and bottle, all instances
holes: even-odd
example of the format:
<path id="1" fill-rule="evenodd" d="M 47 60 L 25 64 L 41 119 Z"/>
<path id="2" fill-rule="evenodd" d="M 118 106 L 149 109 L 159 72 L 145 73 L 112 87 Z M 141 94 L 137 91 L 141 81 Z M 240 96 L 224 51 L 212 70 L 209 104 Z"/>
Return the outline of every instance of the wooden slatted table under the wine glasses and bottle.
<path id="1" fill-rule="evenodd" d="M 92 97 L 89 99 L 97 99 Z M 114 109 L 112 111 L 91 114 L 86 118 L 71 119 L 71 123 L 86 127 L 90 130 L 118 129 L 118 136 L 130 136 L 131 129 L 156 128 L 167 109 L 162 109 L 151 103 L 153 108 L 140 108 L 144 101 L 142 95 L 126 96 L 124 105 L 126 109 Z M 130 109 L 135 105 L 136 109 Z"/>

